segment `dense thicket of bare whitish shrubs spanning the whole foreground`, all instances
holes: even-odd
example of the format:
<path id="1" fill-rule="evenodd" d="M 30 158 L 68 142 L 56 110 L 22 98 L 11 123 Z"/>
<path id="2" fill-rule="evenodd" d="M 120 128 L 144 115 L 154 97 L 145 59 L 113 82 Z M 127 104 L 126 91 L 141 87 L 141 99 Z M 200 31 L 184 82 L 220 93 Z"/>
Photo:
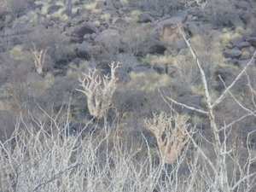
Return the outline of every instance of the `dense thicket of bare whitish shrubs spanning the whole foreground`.
<path id="1" fill-rule="evenodd" d="M 197 140 L 200 148 L 192 148 L 188 143 L 171 166 L 157 160 L 160 152 L 152 149 L 148 136 L 140 129 L 134 137 L 126 131 L 124 123 L 106 122 L 99 133 L 82 135 L 69 126 L 68 109 L 52 114 L 38 108 L 44 117 L 35 111 L 30 111 L 28 116 L 20 113 L 11 139 L 0 142 L 1 191 L 203 192 L 212 189 L 215 176 L 208 159 L 214 163 L 216 157 L 212 155 L 211 140 Z M 26 123 L 25 115 L 26 119 L 31 118 L 31 123 Z M 237 137 L 233 138 L 227 143 L 227 148 L 236 146 L 228 158 L 229 172 L 234 171 L 230 172 L 230 184 L 236 183 L 248 168 L 250 174 L 255 169 L 253 161 L 244 164 L 255 158 L 255 152 L 243 148 Z M 201 156 L 200 150 L 207 155 Z M 238 191 L 253 187 L 252 182 L 240 184 Z"/>

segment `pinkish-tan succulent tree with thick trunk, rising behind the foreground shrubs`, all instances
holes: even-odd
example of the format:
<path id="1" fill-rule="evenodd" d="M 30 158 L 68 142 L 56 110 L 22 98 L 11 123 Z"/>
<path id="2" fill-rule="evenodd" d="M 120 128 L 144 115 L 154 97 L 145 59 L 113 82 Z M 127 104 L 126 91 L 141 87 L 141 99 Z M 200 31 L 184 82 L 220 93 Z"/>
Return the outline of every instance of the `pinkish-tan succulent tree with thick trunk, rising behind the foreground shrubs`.
<path id="1" fill-rule="evenodd" d="M 188 117 L 176 113 L 171 116 L 167 113 L 154 113 L 152 119 L 145 119 L 148 131 L 156 137 L 160 148 L 161 160 L 167 164 L 176 162 L 183 148 L 189 143 L 189 135 L 193 134 L 194 129 L 188 131 Z"/>

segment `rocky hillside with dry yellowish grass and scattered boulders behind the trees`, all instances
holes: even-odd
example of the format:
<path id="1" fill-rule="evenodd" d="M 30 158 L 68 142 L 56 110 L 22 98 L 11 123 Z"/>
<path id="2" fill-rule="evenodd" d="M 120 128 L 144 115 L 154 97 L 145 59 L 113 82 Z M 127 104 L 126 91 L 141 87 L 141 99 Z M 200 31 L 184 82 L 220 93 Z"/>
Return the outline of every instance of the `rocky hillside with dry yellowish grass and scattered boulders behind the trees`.
<path id="1" fill-rule="evenodd" d="M 144 126 L 142 119 L 152 112 L 169 110 L 161 95 L 205 109 L 201 77 L 182 34 L 201 61 L 214 100 L 236 79 L 255 51 L 256 3 L 2 1 L 1 131 L 9 137 L 20 112 L 27 114 L 29 122 L 27 110 L 44 119 L 38 105 L 53 113 L 69 106 L 71 125 L 79 129 L 92 119 L 86 96 L 76 90 L 79 75 L 94 67 L 101 76 L 108 75 L 113 61 L 120 62 L 121 67 L 115 73 L 119 86 L 108 120 L 118 117 L 128 131 L 136 134 L 137 127 Z M 232 90 L 247 107 L 254 103 L 254 65 Z M 220 125 L 244 113 L 231 97 L 216 108 Z M 189 113 L 190 122 L 207 131 L 206 117 L 175 104 L 173 108 Z M 255 119 L 245 118 L 236 127 L 252 131 Z M 1 137 L 4 140 L 5 134 Z"/>

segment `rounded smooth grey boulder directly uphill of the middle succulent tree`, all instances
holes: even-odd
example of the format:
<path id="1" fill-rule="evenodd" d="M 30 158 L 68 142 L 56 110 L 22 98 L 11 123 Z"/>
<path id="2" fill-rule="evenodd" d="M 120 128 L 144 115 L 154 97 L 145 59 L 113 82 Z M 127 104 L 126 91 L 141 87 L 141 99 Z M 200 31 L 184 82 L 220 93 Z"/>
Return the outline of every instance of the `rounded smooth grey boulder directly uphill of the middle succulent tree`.
<path id="1" fill-rule="evenodd" d="M 121 43 L 121 35 L 118 30 L 107 29 L 101 32 L 95 39 L 96 44 L 103 45 L 106 49 L 119 47 Z"/>

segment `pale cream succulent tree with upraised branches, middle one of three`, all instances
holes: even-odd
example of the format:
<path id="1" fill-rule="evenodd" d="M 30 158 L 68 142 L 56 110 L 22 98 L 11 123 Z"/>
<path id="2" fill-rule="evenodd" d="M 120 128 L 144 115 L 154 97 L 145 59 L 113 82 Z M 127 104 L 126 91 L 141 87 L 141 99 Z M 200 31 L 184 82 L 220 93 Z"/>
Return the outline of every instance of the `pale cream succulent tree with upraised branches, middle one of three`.
<path id="1" fill-rule="evenodd" d="M 77 89 L 85 94 L 87 97 L 87 106 L 89 112 L 96 119 L 102 119 L 104 112 L 111 105 L 111 100 L 114 91 L 117 89 L 117 80 L 115 76 L 116 70 L 120 63 L 112 62 L 109 67 L 111 74 L 101 75 L 96 68 L 90 69 L 88 73 L 82 73 L 83 78 L 79 77 L 80 86 L 83 89 Z"/>

